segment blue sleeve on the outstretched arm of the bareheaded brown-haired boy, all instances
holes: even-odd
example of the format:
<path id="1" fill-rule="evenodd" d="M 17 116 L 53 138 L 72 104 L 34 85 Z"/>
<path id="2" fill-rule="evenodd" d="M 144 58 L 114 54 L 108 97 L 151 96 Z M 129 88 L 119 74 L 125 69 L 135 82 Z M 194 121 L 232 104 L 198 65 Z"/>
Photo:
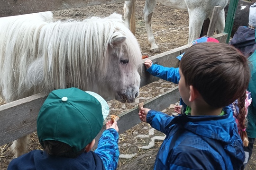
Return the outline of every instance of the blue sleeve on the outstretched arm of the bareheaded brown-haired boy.
<path id="1" fill-rule="evenodd" d="M 146 121 L 156 130 L 163 132 L 165 135 L 169 132 L 169 128 L 165 128 L 174 117 L 155 110 L 149 110 L 146 115 Z"/>

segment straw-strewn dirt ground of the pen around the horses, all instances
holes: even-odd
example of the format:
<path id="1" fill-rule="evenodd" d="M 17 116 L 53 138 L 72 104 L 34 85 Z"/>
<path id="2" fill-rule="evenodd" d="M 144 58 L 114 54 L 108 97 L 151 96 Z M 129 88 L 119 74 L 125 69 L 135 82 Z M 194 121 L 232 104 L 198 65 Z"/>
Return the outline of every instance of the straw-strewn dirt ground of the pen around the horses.
<path id="1" fill-rule="evenodd" d="M 149 51 L 147 46 L 147 36 L 145 23 L 143 20 L 142 10 L 144 7 L 144 0 L 137 0 L 136 2 L 136 38 L 140 44 L 142 55 L 153 56 L 155 53 Z M 86 8 L 72 8 L 66 10 L 53 11 L 55 20 L 77 19 L 82 20 L 87 17 L 99 16 L 106 17 L 113 12 L 123 15 L 124 3 L 111 3 L 109 5 L 95 5 Z M 188 40 L 188 13 L 174 8 L 166 7 L 160 3 L 156 4 L 154 14 L 152 17 L 152 29 L 155 35 L 155 41 L 159 46 L 161 52 L 169 51 L 174 48 L 183 46 Z M 143 102 L 161 93 L 174 88 L 175 85 L 159 80 L 152 84 L 146 85 L 140 89 L 140 96 L 134 103 L 120 103 L 118 101 L 109 101 L 110 114 L 118 115 L 128 109 L 131 109 L 139 102 Z M 178 101 L 177 101 L 178 102 Z M 175 103 L 173 103 L 175 104 Z M 172 114 L 173 110 L 167 108 L 167 114 Z M 147 136 L 138 136 L 147 135 Z M 41 149 L 37 141 L 37 134 L 33 133 L 29 150 Z M 126 133 L 120 134 L 119 146 L 120 154 L 130 154 L 130 159 L 119 159 L 118 170 L 133 170 L 131 164 L 137 165 L 138 170 L 152 170 L 155 161 L 155 155 L 161 140 L 155 140 L 155 146 L 150 149 L 141 149 L 141 146 L 147 145 L 152 136 L 163 136 L 160 132 L 154 131 L 152 133 L 151 127 L 146 123 L 140 123 L 137 126 L 129 129 Z M 9 161 L 13 158 L 13 154 L 9 151 L 10 144 L 0 147 L 0 170 L 5 170 Z M 256 147 L 255 147 L 256 148 Z M 256 170 L 256 152 L 254 152 L 247 170 Z"/>

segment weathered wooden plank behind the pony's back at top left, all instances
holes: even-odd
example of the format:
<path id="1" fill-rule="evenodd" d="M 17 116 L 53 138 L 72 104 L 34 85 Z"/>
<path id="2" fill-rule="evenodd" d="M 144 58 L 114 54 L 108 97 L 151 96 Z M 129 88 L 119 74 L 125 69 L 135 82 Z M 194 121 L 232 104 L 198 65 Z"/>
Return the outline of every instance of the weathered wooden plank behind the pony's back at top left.
<path id="1" fill-rule="evenodd" d="M 0 17 L 124 1 L 126 0 L 0 0 Z"/>

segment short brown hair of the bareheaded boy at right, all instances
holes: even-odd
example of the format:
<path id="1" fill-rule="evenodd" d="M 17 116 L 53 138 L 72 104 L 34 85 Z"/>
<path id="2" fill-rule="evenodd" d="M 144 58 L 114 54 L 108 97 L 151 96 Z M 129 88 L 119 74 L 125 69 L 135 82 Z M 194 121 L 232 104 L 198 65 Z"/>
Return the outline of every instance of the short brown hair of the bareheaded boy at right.
<path id="1" fill-rule="evenodd" d="M 235 47 L 216 42 L 192 45 L 180 61 L 187 86 L 193 85 L 213 108 L 228 106 L 248 87 L 250 69 Z"/>

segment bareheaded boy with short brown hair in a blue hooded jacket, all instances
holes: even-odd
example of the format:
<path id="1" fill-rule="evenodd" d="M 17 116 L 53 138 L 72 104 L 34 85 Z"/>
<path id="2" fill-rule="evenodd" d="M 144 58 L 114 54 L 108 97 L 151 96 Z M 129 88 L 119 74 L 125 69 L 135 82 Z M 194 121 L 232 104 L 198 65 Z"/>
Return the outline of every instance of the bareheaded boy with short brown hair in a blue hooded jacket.
<path id="1" fill-rule="evenodd" d="M 138 113 L 166 135 L 154 169 L 239 170 L 243 143 L 227 106 L 247 88 L 247 59 L 231 45 L 204 42 L 185 52 L 179 68 L 179 91 L 191 115 L 168 116 L 147 108 Z"/>

